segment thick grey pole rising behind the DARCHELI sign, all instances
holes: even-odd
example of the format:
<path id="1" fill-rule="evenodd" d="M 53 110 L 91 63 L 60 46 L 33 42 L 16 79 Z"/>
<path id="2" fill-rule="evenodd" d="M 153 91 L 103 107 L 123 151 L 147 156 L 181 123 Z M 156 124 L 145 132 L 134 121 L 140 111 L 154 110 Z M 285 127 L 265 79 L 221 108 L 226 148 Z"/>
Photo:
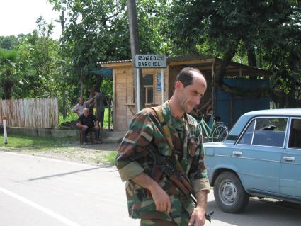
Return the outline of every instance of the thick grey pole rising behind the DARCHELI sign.
<path id="1" fill-rule="evenodd" d="M 136 101 L 136 111 L 140 111 L 141 108 L 144 108 L 145 104 L 145 95 L 143 89 L 143 77 L 142 77 L 142 69 L 139 69 L 139 83 L 137 83 L 137 70 L 135 69 L 135 55 L 140 53 L 140 38 L 139 38 L 139 30 L 138 30 L 138 19 L 137 19 L 137 9 L 136 9 L 136 1 L 135 0 L 127 0 L 127 11 L 128 11 L 128 20 L 129 20 L 129 28 L 130 28 L 130 50 L 132 54 L 132 69 L 134 72 L 134 82 L 135 82 L 135 101 Z M 137 96 L 137 89 L 140 89 L 140 97 Z M 140 104 L 138 104 L 138 100 L 140 99 Z"/>

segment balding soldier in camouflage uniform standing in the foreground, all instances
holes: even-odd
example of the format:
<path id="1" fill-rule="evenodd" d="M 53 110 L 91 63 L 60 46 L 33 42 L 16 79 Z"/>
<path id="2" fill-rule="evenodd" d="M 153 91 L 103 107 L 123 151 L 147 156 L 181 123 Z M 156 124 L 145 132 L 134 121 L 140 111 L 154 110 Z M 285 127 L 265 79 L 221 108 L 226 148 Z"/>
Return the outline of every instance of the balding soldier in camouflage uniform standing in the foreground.
<path id="1" fill-rule="evenodd" d="M 159 181 L 149 175 L 154 166 L 149 156 L 137 157 L 149 142 L 160 154 L 171 157 L 173 151 L 152 108 L 137 113 L 118 149 L 115 164 L 122 181 L 126 181 L 129 215 L 141 219 L 141 225 L 204 225 L 210 185 L 204 164 L 201 128 L 187 113 L 200 103 L 207 87 L 198 69 L 184 68 L 178 74 L 175 91 L 162 106 L 169 126 L 175 154 L 186 172 L 198 200 L 183 196 L 174 183 L 161 174 Z"/>

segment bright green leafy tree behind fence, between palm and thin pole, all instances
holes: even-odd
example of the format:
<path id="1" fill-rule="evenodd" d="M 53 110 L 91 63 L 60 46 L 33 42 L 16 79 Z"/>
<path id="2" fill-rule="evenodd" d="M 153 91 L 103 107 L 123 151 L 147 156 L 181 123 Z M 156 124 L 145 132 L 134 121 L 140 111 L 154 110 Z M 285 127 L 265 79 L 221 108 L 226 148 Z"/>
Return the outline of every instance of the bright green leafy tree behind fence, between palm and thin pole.
<path id="1" fill-rule="evenodd" d="M 25 35 L 16 47 L 20 55 L 22 70 L 18 91 L 20 98 L 59 97 L 61 87 L 61 56 L 59 42 L 52 40 L 52 24 L 45 23 L 40 17 L 38 29 Z"/>

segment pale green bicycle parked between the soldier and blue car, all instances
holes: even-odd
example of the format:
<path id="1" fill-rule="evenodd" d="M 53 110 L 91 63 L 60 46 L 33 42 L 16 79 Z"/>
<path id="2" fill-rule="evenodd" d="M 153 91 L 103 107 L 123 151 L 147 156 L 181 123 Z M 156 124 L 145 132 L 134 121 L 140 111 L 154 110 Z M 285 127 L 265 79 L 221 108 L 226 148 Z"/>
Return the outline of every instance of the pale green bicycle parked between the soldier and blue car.
<path id="1" fill-rule="evenodd" d="M 205 122 L 204 117 L 199 121 L 203 136 L 206 141 L 217 142 L 222 141 L 228 135 L 227 123 L 217 122 L 218 116 L 210 115 L 210 120 L 208 123 Z"/>

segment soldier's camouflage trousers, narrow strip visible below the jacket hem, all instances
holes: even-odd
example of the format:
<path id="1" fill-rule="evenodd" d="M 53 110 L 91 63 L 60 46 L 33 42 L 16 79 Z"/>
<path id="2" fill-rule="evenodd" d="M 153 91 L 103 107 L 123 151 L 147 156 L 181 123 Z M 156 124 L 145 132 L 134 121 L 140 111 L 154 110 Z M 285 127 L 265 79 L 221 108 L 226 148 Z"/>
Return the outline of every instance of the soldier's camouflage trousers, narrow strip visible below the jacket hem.
<path id="1" fill-rule="evenodd" d="M 191 219 L 190 215 L 186 212 L 186 210 L 182 210 L 181 218 L 175 218 L 173 221 L 169 220 L 161 220 L 161 219 L 141 219 L 141 226 L 187 226 L 189 220 Z"/>

